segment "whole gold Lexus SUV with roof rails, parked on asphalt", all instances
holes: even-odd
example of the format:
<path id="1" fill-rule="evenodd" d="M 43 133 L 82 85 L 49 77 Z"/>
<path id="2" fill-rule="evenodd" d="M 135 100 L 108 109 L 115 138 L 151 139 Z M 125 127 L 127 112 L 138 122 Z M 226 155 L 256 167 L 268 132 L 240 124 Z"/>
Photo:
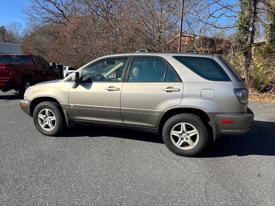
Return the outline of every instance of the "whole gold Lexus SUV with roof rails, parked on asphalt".
<path id="1" fill-rule="evenodd" d="M 254 118 L 232 65 L 195 50 L 104 56 L 63 80 L 29 87 L 20 106 L 44 135 L 76 124 L 130 128 L 160 134 L 181 156 L 199 154 L 221 135 L 245 133 Z"/>

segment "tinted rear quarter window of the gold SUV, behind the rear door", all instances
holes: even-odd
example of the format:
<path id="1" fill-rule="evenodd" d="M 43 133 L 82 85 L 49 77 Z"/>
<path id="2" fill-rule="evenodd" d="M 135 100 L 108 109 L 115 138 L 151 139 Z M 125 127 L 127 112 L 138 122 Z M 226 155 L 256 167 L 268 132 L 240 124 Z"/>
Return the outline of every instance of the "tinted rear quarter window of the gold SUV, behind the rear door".
<path id="1" fill-rule="evenodd" d="M 174 58 L 207 80 L 230 81 L 223 68 L 211 58 L 191 56 L 174 56 Z"/>

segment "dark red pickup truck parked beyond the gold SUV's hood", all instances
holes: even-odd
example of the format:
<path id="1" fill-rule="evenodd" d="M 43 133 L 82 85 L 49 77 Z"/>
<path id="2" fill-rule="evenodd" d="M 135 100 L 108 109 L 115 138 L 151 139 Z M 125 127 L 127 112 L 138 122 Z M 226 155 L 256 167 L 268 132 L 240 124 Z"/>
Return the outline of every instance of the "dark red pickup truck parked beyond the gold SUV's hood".
<path id="1" fill-rule="evenodd" d="M 59 71 L 40 56 L 27 54 L 0 55 L 0 90 L 14 89 L 23 95 L 36 83 L 59 79 Z"/>

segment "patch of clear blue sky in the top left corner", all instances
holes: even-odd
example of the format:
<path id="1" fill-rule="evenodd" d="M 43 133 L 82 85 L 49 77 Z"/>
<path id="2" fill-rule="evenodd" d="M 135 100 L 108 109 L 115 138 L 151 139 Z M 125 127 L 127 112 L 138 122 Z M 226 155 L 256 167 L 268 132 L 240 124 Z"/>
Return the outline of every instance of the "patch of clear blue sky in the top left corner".
<path id="1" fill-rule="evenodd" d="M 25 6 L 28 0 L 0 0 L 0 26 L 5 26 L 13 21 L 20 21 L 23 26 L 25 22 L 21 19 L 21 6 Z"/>

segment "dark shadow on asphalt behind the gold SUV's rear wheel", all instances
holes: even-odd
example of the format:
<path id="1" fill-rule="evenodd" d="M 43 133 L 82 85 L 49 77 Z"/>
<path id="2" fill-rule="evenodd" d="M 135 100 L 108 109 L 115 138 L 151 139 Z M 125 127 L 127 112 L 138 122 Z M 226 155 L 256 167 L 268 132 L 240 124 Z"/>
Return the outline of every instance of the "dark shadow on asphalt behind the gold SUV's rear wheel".
<path id="1" fill-rule="evenodd" d="M 275 122 L 254 121 L 250 131 L 222 136 L 198 157 L 275 155 Z"/>

